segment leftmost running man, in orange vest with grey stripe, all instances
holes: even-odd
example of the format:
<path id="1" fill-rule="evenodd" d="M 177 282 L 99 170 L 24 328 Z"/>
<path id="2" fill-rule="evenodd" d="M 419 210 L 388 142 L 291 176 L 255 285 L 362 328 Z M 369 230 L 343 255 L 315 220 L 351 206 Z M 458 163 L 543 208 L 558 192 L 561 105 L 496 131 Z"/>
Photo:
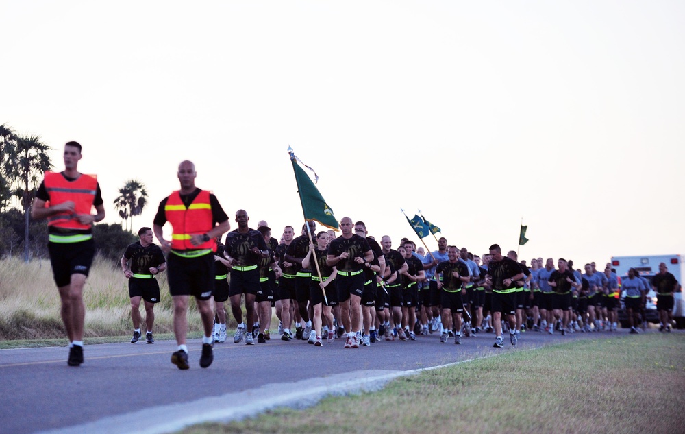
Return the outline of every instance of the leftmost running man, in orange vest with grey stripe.
<path id="1" fill-rule="evenodd" d="M 48 251 L 62 300 L 62 322 L 69 337 L 69 366 L 84 362 L 83 289 L 95 256 L 92 224 L 105 218 L 97 180 L 77 171 L 81 157 L 79 143 L 64 145 L 64 171 L 45 173 L 31 208 L 32 219 L 48 221 Z"/>

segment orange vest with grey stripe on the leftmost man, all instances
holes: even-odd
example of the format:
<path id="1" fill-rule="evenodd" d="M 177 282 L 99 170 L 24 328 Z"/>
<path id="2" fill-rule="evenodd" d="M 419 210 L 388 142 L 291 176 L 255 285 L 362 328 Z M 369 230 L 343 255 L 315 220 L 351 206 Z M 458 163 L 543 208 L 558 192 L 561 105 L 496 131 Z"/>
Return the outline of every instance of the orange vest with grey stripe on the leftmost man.
<path id="1" fill-rule="evenodd" d="M 97 179 L 94 175 L 84 175 L 77 180 L 69 181 L 62 173 L 45 172 L 45 190 L 50 195 L 46 207 L 62 204 L 68 200 L 74 202 L 73 213 L 59 213 L 51 215 L 47 219 L 49 226 L 68 229 L 90 229 L 91 224 L 82 224 L 76 217 L 81 214 L 90 214 L 92 203 L 95 202 L 97 193 Z"/>

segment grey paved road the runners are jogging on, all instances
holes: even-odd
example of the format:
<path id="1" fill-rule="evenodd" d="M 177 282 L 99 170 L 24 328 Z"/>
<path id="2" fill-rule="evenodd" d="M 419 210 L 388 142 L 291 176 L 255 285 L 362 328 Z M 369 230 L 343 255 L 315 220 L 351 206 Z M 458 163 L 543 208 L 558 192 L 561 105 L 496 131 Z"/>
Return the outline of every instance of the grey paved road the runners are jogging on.
<path id="1" fill-rule="evenodd" d="M 452 341 L 440 343 L 439 335 L 434 334 L 417 341 L 380 341 L 352 350 L 343 349 L 342 339 L 332 345 L 324 343 L 323 347 L 275 339 L 245 346 L 234 344 L 229 337 L 227 342 L 215 344 L 214 363 L 208 369 L 198 365 L 201 343 L 197 339 L 189 343 L 190 370 L 186 371 L 178 370 L 169 361 L 175 350 L 173 341 L 86 346 L 86 362 L 81 367 L 66 365 L 68 350 L 64 347 L 0 350 L 0 433 L 53 429 L 84 432 L 83 426 L 77 426 L 88 423 L 100 423 L 98 431 L 105 426 L 111 432 L 131 432 L 122 424 L 145 420 L 153 409 L 158 416 L 171 420 L 190 409 L 198 415 L 204 408 L 263 401 L 271 390 L 275 396 L 276 390 L 282 393 L 321 386 L 315 380 L 327 379 L 323 387 L 334 391 L 331 382 L 375 378 L 562 341 L 616 335 L 627 335 L 627 331 L 566 337 L 527 332 L 516 348 L 507 343 L 503 349 L 493 348 L 494 335 L 462 338 L 462 345 L 456 346 Z M 203 401 L 212 397 L 222 400 L 213 402 L 214 407 Z"/>

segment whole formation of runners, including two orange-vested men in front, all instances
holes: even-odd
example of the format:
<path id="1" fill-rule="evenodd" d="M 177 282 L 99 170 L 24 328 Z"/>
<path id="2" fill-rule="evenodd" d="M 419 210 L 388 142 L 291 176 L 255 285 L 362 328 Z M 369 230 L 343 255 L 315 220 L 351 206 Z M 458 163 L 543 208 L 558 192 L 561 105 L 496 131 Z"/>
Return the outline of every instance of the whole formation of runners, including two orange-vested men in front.
<path id="1" fill-rule="evenodd" d="M 84 361 L 82 290 L 95 252 L 92 223 L 104 217 L 97 180 L 76 170 L 80 158 L 81 146 L 66 143 L 66 170 L 46 173 L 32 207 L 34 219 L 48 219 L 49 252 L 62 298 L 71 366 Z M 286 226 L 278 242 L 266 221 L 260 221 L 257 229 L 250 228 L 249 216 L 241 209 L 235 215 L 238 228 L 228 232 L 229 217 L 219 200 L 195 186 L 195 165 L 181 162 L 177 175 L 180 189 L 160 202 L 153 228 L 140 229 L 140 240 L 129 245 L 121 267 L 129 279 L 132 343 L 142 337 L 141 301 L 145 302 L 146 341 L 154 343 L 153 308 L 160 300 L 155 275 L 166 269 L 178 344 L 171 362 L 179 369 L 189 367 L 186 315 L 190 296 L 195 298 L 203 324 L 201 367 L 212 364 L 214 342 L 227 339 L 227 301 L 238 324 L 234 343 L 247 345 L 255 339 L 257 343 L 271 339 L 272 307 L 283 341 L 303 339 L 322 346 L 324 340 L 333 343 L 344 337 L 345 348 L 370 346 L 379 340 L 416 340 L 417 335 L 429 333 L 440 333 L 442 343 L 453 339 L 460 344 L 462 336 L 482 330 L 494 331 L 493 346 L 501 348 L 505 329 L 514 346 L 526 326 L 553 333 L 558 323 L 562 334 L 574 330 L 576 323 L 585 331 L 599 330 L 602 324 L 616 329 L 618 278 L 610 269 L 596 272 L 594 263 L 586 265 L 586 274 L 573 272 L 571 261 L 564 259 L 558 260 L 558 269 L 552 259 L 541 267 L 541 258 L 534 259 L 529 268 L 519 263 L 514 251 L 503 255 L 497 244 L 480 258 L 466 248 L 449 245 L 444 237 L 438 240 L 438 250 L 422 256 L 408 239 L 401 240 L 397 250 L 387 235 L 378 243 L 362 221 L 349 217 L 340 220 L 338 237 L 332 230 L 316 232 L 314 222 L 309 221 L 298 237 L 292 226 Z M 171 240 L 164 238 L 166 223 L 173 227 Z M 225 242 L 221 243 L 223 234 Z M 675 284 L 664 276 L 656 282 L 664 297 L 671 292 L 672 306 Z M 640 296 L 644 293 L 643 283 L 638 289 L 632 278 L 624 280 L 631 300 L 635 291 Z M 626 303 L 626 307 L 632 321 L 639 304 Z M 295 333 L 291 332 L 293 323 Z"/>

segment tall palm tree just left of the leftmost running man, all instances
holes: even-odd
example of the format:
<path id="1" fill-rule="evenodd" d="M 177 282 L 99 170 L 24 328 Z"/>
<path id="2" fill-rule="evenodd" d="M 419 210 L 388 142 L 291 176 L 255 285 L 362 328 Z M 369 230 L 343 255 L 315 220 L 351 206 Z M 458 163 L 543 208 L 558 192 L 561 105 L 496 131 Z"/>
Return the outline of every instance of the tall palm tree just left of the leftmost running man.
<path id="1" fill-rule="evenodd" d="M 52 148 L 40 141 L 38 136 L 16 138 L 16 160 L 13 165 L 14 195 L 21 200 L 24 210 L 24 261 L 29 261 L 29 208 L 36 195 L 42 174 L 52 169 L 47 152 Z"/>

